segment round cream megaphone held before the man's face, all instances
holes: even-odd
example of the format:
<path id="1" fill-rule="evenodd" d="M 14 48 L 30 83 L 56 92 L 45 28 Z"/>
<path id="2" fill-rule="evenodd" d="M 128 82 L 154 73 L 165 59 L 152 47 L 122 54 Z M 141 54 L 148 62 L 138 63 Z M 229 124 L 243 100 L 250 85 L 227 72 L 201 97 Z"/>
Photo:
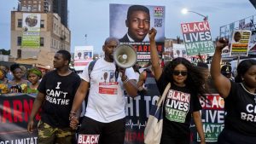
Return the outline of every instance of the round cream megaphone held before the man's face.
<path id="1" fill-rule="evenodd" d="M 137 52 L 129 44 L 120 44 L 113 49 L 113 60 L 117 66 L 128 68 L 137 62 Z"/>

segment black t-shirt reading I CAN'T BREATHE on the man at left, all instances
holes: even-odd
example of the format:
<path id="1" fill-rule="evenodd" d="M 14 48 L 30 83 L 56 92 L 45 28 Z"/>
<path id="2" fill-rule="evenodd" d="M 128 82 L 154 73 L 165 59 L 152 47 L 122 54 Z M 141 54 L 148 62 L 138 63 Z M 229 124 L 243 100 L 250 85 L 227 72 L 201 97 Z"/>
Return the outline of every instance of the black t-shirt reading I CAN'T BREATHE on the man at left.
<path id="1" fill-rule="evenodd" d="M 44 75 L 38 86 L 38 91 L 45 95 L 41 113 L 44 123 L 57 128 L 69 126 L 69 112 L 80 81 L 74 72 L 60 76 L 55 70 Z"/>

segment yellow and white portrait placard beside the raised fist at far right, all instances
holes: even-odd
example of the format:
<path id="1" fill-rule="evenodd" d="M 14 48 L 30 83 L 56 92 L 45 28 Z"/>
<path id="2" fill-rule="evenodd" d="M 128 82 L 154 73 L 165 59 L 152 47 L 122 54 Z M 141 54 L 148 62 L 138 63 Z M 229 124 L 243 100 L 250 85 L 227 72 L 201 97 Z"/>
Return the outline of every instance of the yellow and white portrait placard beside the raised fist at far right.
<path id="1" fill-rule="evenodd" d="M 247 56 L 251 35 L 252 32 L 249 30 L 235 30 L 232 36 L 230 55 Z"/>

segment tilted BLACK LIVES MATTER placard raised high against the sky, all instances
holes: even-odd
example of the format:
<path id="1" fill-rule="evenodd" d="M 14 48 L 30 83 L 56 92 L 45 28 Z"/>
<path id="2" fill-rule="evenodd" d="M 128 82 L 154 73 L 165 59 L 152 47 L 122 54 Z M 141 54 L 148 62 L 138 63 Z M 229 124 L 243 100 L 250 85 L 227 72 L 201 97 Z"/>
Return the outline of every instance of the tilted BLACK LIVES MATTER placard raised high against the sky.
<path id="1" fill-rule="evenodd" d="M 213 54 L 214 44 L 207 20 L 181 24 L 187 55 Z"/>

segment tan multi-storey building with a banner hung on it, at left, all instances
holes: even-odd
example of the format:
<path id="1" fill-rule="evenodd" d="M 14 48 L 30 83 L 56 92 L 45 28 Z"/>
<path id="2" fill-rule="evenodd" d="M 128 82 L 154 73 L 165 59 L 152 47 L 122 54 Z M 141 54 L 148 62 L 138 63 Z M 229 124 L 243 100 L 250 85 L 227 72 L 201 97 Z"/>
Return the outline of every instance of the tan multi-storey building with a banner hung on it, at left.
<path id="1" fill-rule="evenodd" d="M 25 2 L 25 1 L 24 1 Z M 24 3 L 23 2 L 23 3 Z M 27 2 L 26 2 L 27 3 Z M 39 23 L 38 27 L 38 46 L 29 46 L 24 44 L 27 36 L 25 35 L 27 28 L 23 26 L 27 24 L 24 15 L 37 15 Z M 33 23 L 28 23 L 32 25 Z M 28 26 L 28 28 L 30 28 Z M 29 32 L 27 32 L 29 33 Z M 32 33 L 32 32 L 30 32 Z M 12 11 L 11 12 L 11 50 L 10 55 L 16 59 L 37 58 L 40 50 L 48 52 L 56 52 L 60 49 L 70 51 L 70 30 L 61 24 L 61 17 L 55 13 L 32 12 L 32 11 Z M 34 36 L 32 36 L 34 37 Z M 30 38 L 30 37 L 29 37 Z"/>

